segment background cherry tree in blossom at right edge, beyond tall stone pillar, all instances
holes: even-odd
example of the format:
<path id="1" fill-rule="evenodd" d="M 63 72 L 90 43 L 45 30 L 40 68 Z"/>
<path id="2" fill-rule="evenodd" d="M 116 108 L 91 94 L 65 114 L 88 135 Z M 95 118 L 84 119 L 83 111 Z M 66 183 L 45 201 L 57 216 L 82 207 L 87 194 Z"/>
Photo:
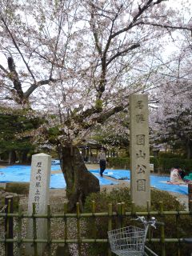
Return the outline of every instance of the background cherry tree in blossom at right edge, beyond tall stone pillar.
<path id="1" fill-rule="evenodd" d="M 175 44 L 175 50 L 166 62 L 161 89 L 156 91 L 161 96 L 150 116 L 151 130 L 154 142 L 178 147 L 187 158 L 192 158 L 191 36 L 182 31 L 180 37 L 184 40 Z"/>

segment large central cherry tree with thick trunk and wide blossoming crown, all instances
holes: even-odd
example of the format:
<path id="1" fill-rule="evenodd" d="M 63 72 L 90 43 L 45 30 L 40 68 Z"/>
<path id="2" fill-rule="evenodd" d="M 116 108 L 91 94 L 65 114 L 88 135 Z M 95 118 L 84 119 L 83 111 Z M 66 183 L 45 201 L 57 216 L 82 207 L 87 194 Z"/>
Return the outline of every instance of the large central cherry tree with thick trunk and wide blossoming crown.
<path id="1" fill-rule="evenodd" d="M 99 190 L 77 145 L 150 90 L 162 38 L 191 30 L 180 15 L 164 0 L 1 0 L 1 99 L 46 115 L 35 138 L 56 147 L 70 208 Z"/>

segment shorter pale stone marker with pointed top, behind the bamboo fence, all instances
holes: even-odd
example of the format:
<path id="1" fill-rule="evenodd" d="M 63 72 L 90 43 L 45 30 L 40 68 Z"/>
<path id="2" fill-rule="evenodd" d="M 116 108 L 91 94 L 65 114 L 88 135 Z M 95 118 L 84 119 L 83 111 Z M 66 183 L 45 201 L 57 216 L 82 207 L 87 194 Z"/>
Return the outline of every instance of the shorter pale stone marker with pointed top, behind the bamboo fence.
<path id="1" fill-rule="evenodd" d="M 32 156 L 30 173 L 30 191 L 28 200 L 28 212 L 33 213 L 33 202 L 35 203 L 36 214 L 46 214 L 47 204 L 50 203 L 50 166 L 51 157 L 48 154 L 34 154 Z M 36 218 L 37 220 L 37 238 L 47 238 L 47 221 L 45 218 Z M 27 222 L 26 238 L 33 238 L 33 219 L 29 218 Z M 38 256 L 42 252 L 46 243 L 38 243 Z M 26 255 L 34 255 L 34 245 L 26 243 Z"/>

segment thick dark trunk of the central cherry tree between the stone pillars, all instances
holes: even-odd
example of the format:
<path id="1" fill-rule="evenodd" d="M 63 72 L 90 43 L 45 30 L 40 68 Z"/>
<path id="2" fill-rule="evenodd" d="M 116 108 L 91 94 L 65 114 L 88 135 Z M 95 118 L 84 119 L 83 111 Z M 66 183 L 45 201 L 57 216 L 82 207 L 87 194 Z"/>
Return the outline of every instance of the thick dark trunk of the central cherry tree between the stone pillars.
<path id="1" fill-rule="evenodd" d="M 59 148 L 58 156 L 61 161 L 62 173 L 66 179 L 69 210 L 74 210 L 76 202 L 83 205 L 88 194 L 100 190 L 99 181 L 86 169 L 78 147 Z"/>

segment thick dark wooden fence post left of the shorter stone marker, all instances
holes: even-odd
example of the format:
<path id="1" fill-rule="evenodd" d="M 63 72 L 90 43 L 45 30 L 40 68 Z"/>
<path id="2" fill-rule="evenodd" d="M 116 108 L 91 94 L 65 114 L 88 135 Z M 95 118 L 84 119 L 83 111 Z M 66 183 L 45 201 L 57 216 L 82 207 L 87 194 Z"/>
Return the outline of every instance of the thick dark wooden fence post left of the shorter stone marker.
<path id="1" fill-rule="evenodd" d="M 12 195 L 7 195 L 5 197 L 5 205 L 6 207 L 6 214 L 13 214 L 14 212 L 14 197 Z M 14 238 L 14 220 L 13 217 L 6 216 L 5 218 L 5 232 L 6 232 L 6 239 L 13 239 Z M 6 256 L 14 256 L 14 243 L 8 242 L 5 243 L 5 255 Z"/>

